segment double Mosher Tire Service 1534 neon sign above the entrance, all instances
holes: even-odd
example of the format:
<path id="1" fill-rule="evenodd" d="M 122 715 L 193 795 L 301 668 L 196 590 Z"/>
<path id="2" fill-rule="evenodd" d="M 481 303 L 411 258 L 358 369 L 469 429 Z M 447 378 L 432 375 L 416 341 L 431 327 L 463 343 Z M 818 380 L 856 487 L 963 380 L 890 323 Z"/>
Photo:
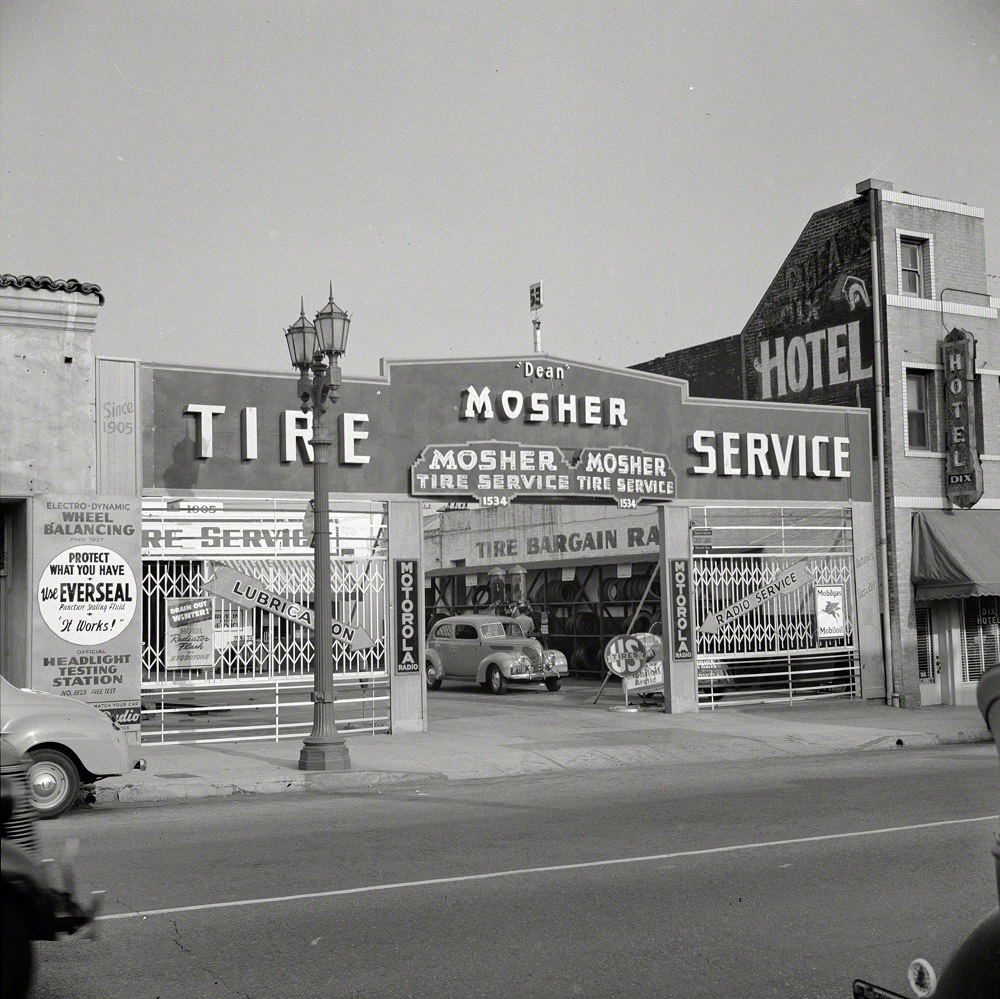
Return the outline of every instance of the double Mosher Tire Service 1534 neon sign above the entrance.
<path id="1" fill-rule="evenodd" d="M 571 462 L 560 448 L 515 441 L 428 445 L 410 469 L 410 483 L 414 496 L 471 496 L 483 506 L 507 506 L 515 499 L 604 499 L 622 509 L 635 509 L 641 500 L 671 500 L 676 488 L 665 454 L 584 448 Z"/>

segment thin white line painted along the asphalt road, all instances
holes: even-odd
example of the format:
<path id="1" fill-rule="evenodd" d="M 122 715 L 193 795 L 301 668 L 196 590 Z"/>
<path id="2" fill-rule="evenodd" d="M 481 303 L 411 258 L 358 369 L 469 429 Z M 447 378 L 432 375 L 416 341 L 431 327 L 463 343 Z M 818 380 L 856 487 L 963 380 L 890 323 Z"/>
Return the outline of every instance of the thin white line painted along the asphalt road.
<path id="1" fill-rule="evenodd" d="M 400 888 L 426 888 L 434 885 L 457 884 L 462 881 L 488 881 L 492 878 L 515 878 L 526 874 L 553 874 L 559 871 L 580 871 L 589 867 L 611 867 L 615 864 L 648 864 L 651 861 L 677 860 L 681 857 L 705 857 L 713 853 L 737 853 L 741 850 L 760 850 L 771 846 L 796 846 L 802 843 L 822 843 L 833 839 L 857 839 L 861 836 L 887 836 L 892 833 L 913 832 L 919 829 L 939 829 L 942 826 L 967 825 L 970 822 L 996 822 L 1000 816 L 980 815 L 972 819 L 945 819 L 942 822 L 921 822 L 911 826 L 890 826 L 886 829 L 863 829 L 849 833 L 827 833 L 824 836 L 802 836 L 797 839 L 775 839 L 764 843 L 738 843 L 735 846 L 714 846 L 705 850 L 679 850 L 676 853 L 654 853 L 645 857 L 617 857 L 611 860 L 588 860 L 578 864 L 555 864 L 551 867 L 520 867 L 509 871 L 487 871 L 483 874 L 457 874 L 451 878 L 428 878 L 426 881 L 397 881 L 386 885 L 362 885 L 359 888 L 335 888 L 332 891 L 305 892 L 301 895 L 272 895 L 269 898 L 243 898 L 233 902 L 206 902 L 202 905 L 177 905 L 169 909 L 143 909 L 136 912 L 111 912 L 98 916 L 98 920 L 146 919 L 148 916 L 167 916 L 178 912 L 202 912 L 206 909 L 235 909 L 245 905 L 269 905 L 275 902 L 302 902 L 314 898 L 336 898 L 339 895 L 365 895 L 376 891 L 394 891 Z"/>

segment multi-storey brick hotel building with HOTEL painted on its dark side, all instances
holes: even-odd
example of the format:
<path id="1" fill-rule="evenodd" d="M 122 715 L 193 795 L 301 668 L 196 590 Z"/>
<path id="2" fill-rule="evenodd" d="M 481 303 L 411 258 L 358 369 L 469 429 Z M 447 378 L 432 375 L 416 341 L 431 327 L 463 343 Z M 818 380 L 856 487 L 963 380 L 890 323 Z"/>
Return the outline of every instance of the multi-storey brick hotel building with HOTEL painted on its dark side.
<path id="1" fill-rule="evenodd" d="M 998 316 L 982 210 L 866 180 L 812 216 L 738 335 L 635 366 L 692 396 L 871 410 L 870 554 L 902 707 L 973 703 L 1000 660 Z"/>

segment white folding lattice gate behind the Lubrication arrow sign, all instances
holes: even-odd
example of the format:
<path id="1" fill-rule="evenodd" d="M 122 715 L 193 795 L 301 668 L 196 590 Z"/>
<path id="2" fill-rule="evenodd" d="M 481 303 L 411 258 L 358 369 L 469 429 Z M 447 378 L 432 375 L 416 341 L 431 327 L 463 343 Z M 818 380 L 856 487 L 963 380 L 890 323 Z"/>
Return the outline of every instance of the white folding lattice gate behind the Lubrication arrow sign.
<path id="1" fill-rule="evenodd" d="M 334 620 L 364 628 L 374 643 L 333 647 L 337 728 L 345 736 L 390 727 L 384 521 L 374 536 L 366 557 L 330 560 Z M 302 606 L 312 603 L 311 555 L 145 560 L 143 743 L 275 741 L 302 738 L 312 727 L 312 630 L 301 624 L 211 595 L 211 665 L 172 665 L 169 602 L 206 597 L 206 583 L 223 566 Z"/>

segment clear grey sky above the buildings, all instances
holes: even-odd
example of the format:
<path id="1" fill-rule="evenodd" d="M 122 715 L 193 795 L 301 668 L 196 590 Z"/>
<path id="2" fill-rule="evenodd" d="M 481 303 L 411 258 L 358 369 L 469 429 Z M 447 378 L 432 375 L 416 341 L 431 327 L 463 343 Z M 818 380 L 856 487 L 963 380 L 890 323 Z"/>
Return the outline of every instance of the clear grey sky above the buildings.
<path id="1" fill-rule="evenodd" d="M 304 298 L 382 358 L 624 367 L 738 333 L 869 177 L 986 213 L 998 0 L 4 0 L 0 271 L 96 350 L 291 371 Z"/>

